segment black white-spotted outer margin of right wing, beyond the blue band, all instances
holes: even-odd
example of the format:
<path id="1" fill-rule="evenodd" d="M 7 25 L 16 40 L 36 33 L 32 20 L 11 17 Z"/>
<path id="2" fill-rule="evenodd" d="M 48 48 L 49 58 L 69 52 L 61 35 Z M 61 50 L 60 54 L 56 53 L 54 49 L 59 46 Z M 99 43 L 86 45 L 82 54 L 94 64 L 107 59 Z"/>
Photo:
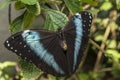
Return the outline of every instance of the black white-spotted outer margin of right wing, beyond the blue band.
<path id="1" fill-rule="evenodd" d="M 81 12 L 81 17 L 82 17 L 82 28 L 83 28 L 83 36 L 81 40 L 81 47 L 79 49 L 79 55 L 77 57 L 77 63 L 76 63 L 76 69 L 78 65 L 80 64 L 80 61 L 82 59 L 83 53 L 87 47 L 87 43 L 89 40 L 89 35 L 90 35 L 90 28 L 92 24 L 92 14 L 88 12 Z"/>

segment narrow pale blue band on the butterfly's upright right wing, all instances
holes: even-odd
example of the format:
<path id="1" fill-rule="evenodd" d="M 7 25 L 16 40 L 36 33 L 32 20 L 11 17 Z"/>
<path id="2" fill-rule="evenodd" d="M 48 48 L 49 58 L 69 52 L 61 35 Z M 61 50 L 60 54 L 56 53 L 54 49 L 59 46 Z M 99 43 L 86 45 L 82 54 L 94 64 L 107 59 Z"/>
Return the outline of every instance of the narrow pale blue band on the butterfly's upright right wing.
<path id="1" fill-rule="evenodd" d="M 75 48 L 74 48 L 74 63 L 73 63 L 73 70 L 75 69 L 75 66 L 77 64 L 77 57 L 79 54 L 80 46 L 81 46 L 81 41 L 82 41 L 82 17 L 81 14 L 77 13 L 74 16 L 73 23 L 75 25 L 76 29 L 76 37 L 75 37 Z"/>

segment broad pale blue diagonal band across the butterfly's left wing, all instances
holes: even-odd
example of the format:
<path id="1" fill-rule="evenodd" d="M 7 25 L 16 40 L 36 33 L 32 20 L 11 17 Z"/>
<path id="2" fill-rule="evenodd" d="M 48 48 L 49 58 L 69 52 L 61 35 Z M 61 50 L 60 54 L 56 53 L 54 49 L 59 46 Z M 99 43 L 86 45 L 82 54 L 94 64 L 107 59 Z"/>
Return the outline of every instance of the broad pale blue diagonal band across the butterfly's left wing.
<path id="1" fill-rule="evenodd" d="M 46 62 L 49 66 L 52 66 L 56 72 L 64 74 L 64 71 L 55 61 L 54 56 L 49 53 L 40 42 L 40 34 L 38 32 L 26 30 L 22 33 L 22 37 L 26 41 L 27 45 L 30 46 L 30 49 L 33 50 L 40 59 Z"/>

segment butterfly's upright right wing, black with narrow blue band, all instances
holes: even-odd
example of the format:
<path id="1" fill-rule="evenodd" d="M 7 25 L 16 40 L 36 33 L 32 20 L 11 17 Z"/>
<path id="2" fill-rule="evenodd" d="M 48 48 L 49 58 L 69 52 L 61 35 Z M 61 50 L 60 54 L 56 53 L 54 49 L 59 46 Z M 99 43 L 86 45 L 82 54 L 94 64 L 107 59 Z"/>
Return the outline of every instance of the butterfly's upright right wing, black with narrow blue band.
<path id="1" fill-rule="evenodd" d="M 88 12 L 77 13 L 65 26 L 64 35 L 67 42 L 67 59 L 69 61 L 69 72 L 76 71 L 86 48 L 92 15 Z"/>

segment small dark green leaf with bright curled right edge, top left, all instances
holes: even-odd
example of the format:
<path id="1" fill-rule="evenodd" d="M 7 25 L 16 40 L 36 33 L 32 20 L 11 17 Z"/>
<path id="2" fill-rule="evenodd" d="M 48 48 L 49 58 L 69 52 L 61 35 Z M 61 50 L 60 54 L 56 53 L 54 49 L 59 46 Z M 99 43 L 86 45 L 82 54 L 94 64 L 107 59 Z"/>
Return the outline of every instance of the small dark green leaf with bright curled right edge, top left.
<path id="1" fill-rule="evenodd" d="M 29 13 L 32 13 L 32 14 L 35 14 L 35 15 L 39 15 L 40 12 L 41 12 L 41 8 L 40 8 L 39 2 L 37 2 L 34 5 L 26 5 L 26 8 L 27 8 Z"/>

